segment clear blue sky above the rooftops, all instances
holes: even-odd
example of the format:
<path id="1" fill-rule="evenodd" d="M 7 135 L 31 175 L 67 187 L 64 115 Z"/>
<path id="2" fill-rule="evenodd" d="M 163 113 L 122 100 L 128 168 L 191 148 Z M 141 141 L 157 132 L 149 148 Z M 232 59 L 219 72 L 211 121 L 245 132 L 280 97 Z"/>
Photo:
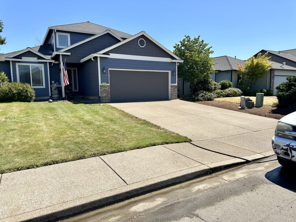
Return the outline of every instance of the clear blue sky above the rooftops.
<path id="1" fill-rule="evenodd" d="M 261 49 L 296 48 L 296 1 L 1 1 L 1 53 L 34 46 L 48 26 L 90 21 L 126 33 L 142 30 L 170 50 L 200 35 L 213 57 L 247 59 Z"/>

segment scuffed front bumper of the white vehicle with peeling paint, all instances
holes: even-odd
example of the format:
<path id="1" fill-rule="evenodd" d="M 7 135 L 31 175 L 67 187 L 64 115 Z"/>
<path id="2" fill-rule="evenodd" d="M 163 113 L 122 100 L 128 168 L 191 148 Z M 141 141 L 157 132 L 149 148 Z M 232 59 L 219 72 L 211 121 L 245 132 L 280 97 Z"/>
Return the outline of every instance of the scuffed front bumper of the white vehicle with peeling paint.
<path id="1" fill-rule="evenodd" d="M 272 148 L 274 153 L 284 160 L 296 162 L 296 141 L 274 135 L 272 137 Z"/>

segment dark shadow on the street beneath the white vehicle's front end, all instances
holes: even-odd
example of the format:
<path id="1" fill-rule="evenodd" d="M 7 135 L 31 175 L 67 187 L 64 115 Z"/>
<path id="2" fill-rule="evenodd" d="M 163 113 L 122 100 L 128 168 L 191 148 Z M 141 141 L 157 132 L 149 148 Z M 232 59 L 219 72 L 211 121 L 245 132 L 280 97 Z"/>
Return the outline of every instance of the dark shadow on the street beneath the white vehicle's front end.
<path id="1" fill-rule="evenodd" d="M 278 167 L 265 174 L 265 178 L 285 189 L 296 192 L 295 168 Z"/>

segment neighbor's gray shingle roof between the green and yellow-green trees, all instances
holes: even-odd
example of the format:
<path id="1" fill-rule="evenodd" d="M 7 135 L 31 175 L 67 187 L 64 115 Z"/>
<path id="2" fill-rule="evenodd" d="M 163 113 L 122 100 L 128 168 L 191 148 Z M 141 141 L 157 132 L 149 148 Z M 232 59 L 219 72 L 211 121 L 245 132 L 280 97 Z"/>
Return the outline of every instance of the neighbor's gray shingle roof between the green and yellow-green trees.
<path id="1" fill-rule="evenodd" d="M 213 59 L 216 65 L 213 66 L 213 69 L 215 70 L 221 70 L 221 71 L 226 71 L 226 70 L 236 70 L 237 69 L 237 63 L 243 65 L 244 60 L 241 59 L 235 59 L 230 56 L 219 56 L 219 57 L 214 57 Z"/>

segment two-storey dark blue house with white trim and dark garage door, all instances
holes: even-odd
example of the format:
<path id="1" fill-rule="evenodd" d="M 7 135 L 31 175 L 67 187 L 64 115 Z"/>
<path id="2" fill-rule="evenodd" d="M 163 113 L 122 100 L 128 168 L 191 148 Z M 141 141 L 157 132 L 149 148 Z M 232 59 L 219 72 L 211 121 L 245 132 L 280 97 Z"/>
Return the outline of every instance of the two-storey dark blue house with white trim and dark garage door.
<path id="1" fill-rule="evenodd" d="M 66 61 L 69 86 L 64 81 Z M 51 82 L 61 96 L 101 102 L 177 98 L 177 65 L 183 62 L 144 31 L 130 35 L 91 22 L 50 26 L 41 46 L 0 55 L 10 81 L 29 83 L 49 99 Z"/>

